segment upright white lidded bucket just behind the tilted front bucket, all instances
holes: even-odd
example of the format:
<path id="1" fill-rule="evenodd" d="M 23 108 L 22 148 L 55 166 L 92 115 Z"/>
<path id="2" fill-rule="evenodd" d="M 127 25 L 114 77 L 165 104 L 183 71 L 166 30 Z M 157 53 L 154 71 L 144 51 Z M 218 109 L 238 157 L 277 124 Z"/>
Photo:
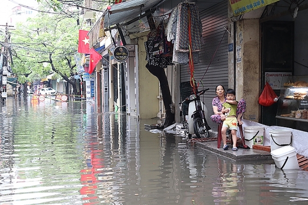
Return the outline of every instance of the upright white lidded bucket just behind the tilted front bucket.
<path id="1" fill-rule="evenodd" d="M 278 148 L 291 145 L 292 143 L 292 131 L 287 129 L 277 129 L 269 131 L 269 137 L 271 138 L 271 151 Z"/>

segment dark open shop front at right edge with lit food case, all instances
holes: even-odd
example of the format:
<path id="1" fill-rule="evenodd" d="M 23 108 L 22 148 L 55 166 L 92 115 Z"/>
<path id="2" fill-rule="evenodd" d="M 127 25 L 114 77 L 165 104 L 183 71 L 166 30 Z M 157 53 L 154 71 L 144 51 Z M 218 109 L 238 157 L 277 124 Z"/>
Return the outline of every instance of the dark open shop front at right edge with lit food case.
<path id="1" fill-rule="evenodd" d="M 307 132 L 308 10 L 305 5 L 284 1 L 268 6 L 268 10 L 274 12 L 260 18 L 262 83 L 268 81 L 280 98 L 277 104 L 262 107 L 262 124 Z M 273 77 L 275 74 L 280 77 Z"/>

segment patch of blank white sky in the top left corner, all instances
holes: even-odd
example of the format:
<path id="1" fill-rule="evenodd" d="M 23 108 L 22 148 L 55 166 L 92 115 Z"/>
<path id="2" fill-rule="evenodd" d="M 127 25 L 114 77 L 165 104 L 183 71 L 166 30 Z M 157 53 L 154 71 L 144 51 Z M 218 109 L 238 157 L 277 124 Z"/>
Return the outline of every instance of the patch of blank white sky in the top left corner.
<path id="1" fill-rule="evenodd" d="M 0 25 L 5 25 L 8 22 L 9 16 L 12 14 L 12 8 L 18 6 L 18 3 L 26 6 L 34 6 L 36 0 L 0 0 Z"/>

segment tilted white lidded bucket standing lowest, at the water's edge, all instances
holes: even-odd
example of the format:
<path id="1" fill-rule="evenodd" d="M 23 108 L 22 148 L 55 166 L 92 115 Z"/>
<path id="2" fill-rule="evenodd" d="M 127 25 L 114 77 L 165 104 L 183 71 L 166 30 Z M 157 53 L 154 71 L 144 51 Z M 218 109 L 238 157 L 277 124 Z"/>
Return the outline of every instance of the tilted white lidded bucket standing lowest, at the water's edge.
<path id="1" fill-rule="evenodd" d="M 279 169 L 299 169 L 295 148 L 284 146 L 271 151 L 275 165 Z"/>

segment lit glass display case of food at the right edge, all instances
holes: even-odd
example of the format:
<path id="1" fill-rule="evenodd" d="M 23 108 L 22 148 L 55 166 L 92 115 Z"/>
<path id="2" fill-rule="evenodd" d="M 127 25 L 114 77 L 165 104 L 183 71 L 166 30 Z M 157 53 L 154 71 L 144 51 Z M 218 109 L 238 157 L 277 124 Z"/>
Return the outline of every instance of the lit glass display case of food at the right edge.
<path id="1" fill-rule="evenodd" d="M 278 99 L 277 125 L 308 131 L 308 76 L 283 80 Z"/>

